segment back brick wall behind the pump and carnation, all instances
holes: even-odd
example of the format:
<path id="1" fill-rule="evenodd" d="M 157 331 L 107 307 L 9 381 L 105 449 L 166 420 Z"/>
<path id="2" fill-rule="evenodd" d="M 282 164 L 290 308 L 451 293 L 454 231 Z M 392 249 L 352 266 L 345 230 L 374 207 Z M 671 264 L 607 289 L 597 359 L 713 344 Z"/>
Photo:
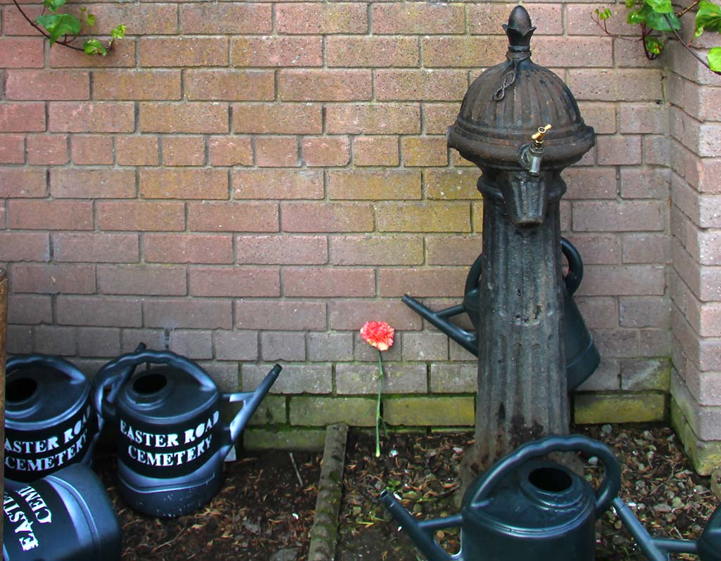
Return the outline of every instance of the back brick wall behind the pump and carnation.
<path id="1" fill-rule="evenodd" d="M 399 333 L 389 423 L 473 423 L 474 357 L 399 297 L 459 302 L 480 251 L 478 173 L 444 135 L 470 81 L 504 60 L 513 4 L 91 4 L 99 32 L 128 25 L 107 58 L 49 50 L 0 5 L 9 352 L 63 354 L 90 373 L 146 341 L 197 359 L 225 390 L 282 362 L 248 444 L 317 444 L 326 423 L 373 423 L 376 355 L 358 328 L 383 319 Z M 526 7 L 534 60 L 598 133 L 562 202 L 603 354 L 577 419 L 664 418 L 661 63 L 603 35 L 594 2 Z M 629 32 L 623 15 L 615 32 Z"/>

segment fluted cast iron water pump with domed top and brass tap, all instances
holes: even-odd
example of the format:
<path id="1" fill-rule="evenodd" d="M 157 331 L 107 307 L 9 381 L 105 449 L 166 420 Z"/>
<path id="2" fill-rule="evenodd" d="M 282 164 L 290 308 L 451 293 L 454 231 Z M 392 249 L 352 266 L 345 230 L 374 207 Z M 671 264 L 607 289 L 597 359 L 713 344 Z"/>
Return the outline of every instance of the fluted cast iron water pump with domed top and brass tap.
<path id="1" fill-rule="evenodd" d="M 448 130 L 448 145 L 481 169 L 484 197 L 472 472 L 568 432 L 560 174 L 596 138 L 561 78 L 531 61 L 526 9 L 503 27 L 507 60 L 476 78 Z"/>

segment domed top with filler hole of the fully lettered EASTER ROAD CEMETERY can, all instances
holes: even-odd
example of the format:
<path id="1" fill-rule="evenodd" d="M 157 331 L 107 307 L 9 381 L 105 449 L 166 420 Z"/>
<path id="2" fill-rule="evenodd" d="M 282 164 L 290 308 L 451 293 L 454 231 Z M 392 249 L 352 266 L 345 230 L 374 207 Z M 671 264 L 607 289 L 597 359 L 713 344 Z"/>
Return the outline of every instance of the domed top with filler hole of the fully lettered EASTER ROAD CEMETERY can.
<path id="1" fill-rule="evenodd" d="M 125 416 L 172 424 L 212 413 L 220 397 L 215 385 L 203 385 L 185 370 L 163 365 L 128 380 L 118 393 L 116 407 Z"/>

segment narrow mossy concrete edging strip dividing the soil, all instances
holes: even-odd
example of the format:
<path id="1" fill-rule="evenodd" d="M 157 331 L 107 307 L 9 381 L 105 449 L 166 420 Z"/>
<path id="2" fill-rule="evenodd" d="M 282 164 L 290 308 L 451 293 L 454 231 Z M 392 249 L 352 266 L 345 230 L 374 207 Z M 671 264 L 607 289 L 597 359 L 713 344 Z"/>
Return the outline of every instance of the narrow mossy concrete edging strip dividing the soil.
<path id="1" fill-rule="evenodd" d="M 308 561 L 333 561 L 335 557 L 347 437 L 348 425 L 339 423 L 326 427 Z"/>

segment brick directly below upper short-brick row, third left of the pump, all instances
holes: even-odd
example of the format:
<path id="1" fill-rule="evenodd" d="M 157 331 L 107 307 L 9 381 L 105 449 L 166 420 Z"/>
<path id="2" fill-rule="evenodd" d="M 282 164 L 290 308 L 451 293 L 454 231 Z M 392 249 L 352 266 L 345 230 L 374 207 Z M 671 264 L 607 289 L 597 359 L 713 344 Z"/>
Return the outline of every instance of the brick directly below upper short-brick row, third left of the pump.
<path id="1" fill-rule="evenodd" d="M 234 199 L 322 199 L 323 174 L 311 169 L 234 169 Z"/>

